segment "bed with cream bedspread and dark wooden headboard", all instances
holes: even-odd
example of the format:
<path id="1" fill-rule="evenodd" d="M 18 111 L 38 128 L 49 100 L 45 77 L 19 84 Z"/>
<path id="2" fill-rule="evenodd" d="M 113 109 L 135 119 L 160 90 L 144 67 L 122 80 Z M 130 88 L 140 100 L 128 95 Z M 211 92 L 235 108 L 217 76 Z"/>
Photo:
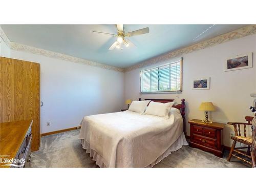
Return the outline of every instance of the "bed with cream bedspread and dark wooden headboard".
<path id="1" fill-rule="evenodd" d="M 153 167 L 187 145 L 185 99 L 173 105 L 169 119 L 125 111 L 86 116 L 80 125 L 78 139 L 99 167 Z"/>

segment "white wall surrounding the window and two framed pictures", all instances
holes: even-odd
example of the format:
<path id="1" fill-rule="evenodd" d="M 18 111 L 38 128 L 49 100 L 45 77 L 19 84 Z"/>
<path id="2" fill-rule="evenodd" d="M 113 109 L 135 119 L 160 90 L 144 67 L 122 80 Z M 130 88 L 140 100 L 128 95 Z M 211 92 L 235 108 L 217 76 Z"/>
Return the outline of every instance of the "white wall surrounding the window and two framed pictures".
<path id="1" fill-rule="evenodd" d="M 139 93 L 139 71 L 126 72 L 124 75 L 124 99 L 137 100 L 141 98 L 175 98 L 177 102 L 186 100 L 186 121 L 203 119 L 204 112 L 198 107 L 202 101 L 211 101 L 217 106 L 217 111 L 209 112 L 213 121 L 227 123 L 228 121 L 245 121 L 244 116 L 252 116 L 248 107 L 253 99 L 250 93 L 256 92 L 256 66 L 250 69 L 224 72 L 225 59 L 237 54 L 254 52 L 256 54 L 256 34 L 226 42 L 214 47 L 199 50 L 183 57 L 183 92 L 178 94 L 142 94 Z M 255 54 L 253 61 L 256 65 Z M 193 78 L 210 77 L 210 90 L 191 90 Z M 186 124 L 189 135 L 189 125 Z M 224 145 L 231 146 L 230 131 L 224 129 Z M 249 131 L 249 130 L 248 130 Z"/>

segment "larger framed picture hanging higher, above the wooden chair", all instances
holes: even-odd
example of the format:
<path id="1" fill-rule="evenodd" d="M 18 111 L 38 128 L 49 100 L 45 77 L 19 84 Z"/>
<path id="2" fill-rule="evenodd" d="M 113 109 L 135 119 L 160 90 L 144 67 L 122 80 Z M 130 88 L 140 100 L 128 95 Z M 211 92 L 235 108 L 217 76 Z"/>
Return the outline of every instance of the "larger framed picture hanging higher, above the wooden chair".
<path id="1" fill-rule="evenodd" d="M 251 67 L 252 67 L 252 53 L 247 53 L 247 54 L 236 55 L 234 57 L 227 58 L 224 66 L 224 71 L 246 69 Z"/>

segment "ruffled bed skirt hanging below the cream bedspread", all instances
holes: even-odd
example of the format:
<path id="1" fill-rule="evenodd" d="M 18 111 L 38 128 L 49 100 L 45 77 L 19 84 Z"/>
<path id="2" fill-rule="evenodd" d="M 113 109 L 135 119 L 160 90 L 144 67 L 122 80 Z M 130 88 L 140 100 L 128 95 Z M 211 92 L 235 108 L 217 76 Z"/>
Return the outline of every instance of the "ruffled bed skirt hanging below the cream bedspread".
<path id="1" fill-rule="evenodd" d="M 86 150 L 86 153 L 90 154 L 90 157 L 92 157 L 93 161 L 96 162 L 96 165 L 101 168 L 106 167 L 103 162 L 103 157 L 99 155 L 96 151 L 91 149 L 90 143 L 88 143 L 84 139 L 80 139 L 80 141 L 82 144 L 82 148 Z M 162 161 L 165 157 L 170 155 L 172 152 L 179 150 L 183 145 L 188 145 L 184 133 L 182 133 L 181 136 L 172 145 L 170 145 L 169 148 L 167 148 L 167 150 L 160 157 L 158 157 L 153 163 L 146 167 L 153 167 L 154 165 Z"/>

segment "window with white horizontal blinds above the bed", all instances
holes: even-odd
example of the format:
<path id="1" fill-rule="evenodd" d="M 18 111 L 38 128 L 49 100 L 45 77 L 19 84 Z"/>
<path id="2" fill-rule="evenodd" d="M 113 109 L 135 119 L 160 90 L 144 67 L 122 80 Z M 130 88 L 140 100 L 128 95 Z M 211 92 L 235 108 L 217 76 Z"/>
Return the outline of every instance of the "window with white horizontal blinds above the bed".
<path id="1" fill-rule="evenodd" d="M 140 93 L 182 91 L 182 58 L 140 71 Z"/>

